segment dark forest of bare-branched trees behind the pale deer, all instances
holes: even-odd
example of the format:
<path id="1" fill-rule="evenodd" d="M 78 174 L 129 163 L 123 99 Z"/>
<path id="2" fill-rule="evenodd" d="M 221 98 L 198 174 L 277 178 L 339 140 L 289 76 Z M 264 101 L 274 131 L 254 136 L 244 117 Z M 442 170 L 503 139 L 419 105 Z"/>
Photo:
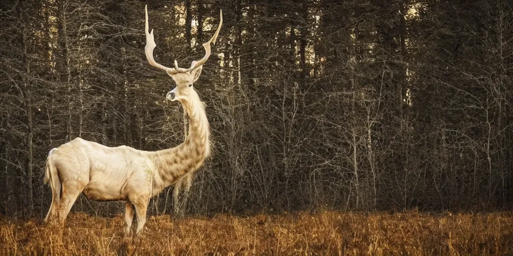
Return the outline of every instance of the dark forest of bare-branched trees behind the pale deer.
<path id="1" fill-rule="evenodd" d="M 188 66 L 213 157 L 151 214 L 513 206 L 513 4 L 445 0 L 2 1 L 0 212 L 44 216 L 48 152 L 161 150 L 186 119 L 144 55 Z M 171 194 L 171 196 L 169 195 Z M 117 214 L 81 196 L 74 211 Z"/>

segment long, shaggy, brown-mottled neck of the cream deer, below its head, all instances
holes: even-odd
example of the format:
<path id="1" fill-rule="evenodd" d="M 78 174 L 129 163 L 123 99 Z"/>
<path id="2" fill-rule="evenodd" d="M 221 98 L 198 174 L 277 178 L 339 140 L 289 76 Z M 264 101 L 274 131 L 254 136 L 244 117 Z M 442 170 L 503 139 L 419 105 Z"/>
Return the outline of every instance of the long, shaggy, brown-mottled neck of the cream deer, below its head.
<path id="1" fill-rule="evenodd" d="M 157 174 L 155 181 L 161 189 L 200 168 L 205 158 L 210 155 L 210 127 L 205 115 L 205 105 L 193 90 L 189 99 L 182 100 L 181 103 L 190 119 L 185 141 L 168 150 L 154 152 L 153 163 Z"/>

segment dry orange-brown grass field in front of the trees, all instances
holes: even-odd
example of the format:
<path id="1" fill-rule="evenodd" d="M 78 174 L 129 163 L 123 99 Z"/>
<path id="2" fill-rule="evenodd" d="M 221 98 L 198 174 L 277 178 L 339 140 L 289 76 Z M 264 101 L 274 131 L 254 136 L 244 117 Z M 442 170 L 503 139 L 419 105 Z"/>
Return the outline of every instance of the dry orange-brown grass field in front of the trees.
<path id="1" fill-rule="evenodd" d="M 140 238 L 123 218 L 71 214 L 64 228 L 0 219 L 2 255 L 513 255 L 513 214 L 325 211 L 150 217 Z"/>

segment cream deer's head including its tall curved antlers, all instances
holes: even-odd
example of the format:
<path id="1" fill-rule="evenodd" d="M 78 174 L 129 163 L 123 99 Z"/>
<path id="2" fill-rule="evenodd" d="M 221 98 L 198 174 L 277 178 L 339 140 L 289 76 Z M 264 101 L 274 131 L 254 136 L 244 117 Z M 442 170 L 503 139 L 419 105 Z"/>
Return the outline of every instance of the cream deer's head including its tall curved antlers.
<path id="1" fill-rule="evenodd" d="M 189 99 L 190 95 L 196 94 L 194 91 L 194 88 L 192 87 L 192 84 L 200 78 L 201 70 L 203 68 L 203 64 L 207 62 L 208 57 L 210 57 L 210 44 L 215 45 L 215 40 L 218 38 L 219 31 L 221 30 L 221 26 L 223 25 L 223 11 L 220 11 L 220 21 L 218 29 L 215 31 L 214 35 L 210 40 L 205 42 L 203 44 L 203 47 L 205 48 L 205 56 L 203 56 L 200 60 L 194 60 L 191 63 L 190 68 L 179 68 L 178 62 L 176 60 L 174 61 L 174 68 L 168 68 L 164 65 L 161 65 L 157 63 L 153 59 L 153 49 L 155 48 L 155 40 L 153 38 L 153 29 L 151 32 L 149 32 L 149 25 L 148 25 L 148 7 L 145 7 L 146 12 L 146 23 L 145 23 L 145 32 L 146 32 L 146 46 L 144 47 L 144 52 L 146 54 L 146 58 L 148 59 L 148 62 L 151 66 L 155 68 L 162 69 L 166 71 L 168 75 L 173 78 L 174 82 L 176 83 L 176 87 L 167 93 L 166 99 L 174 101 L 174 100 L 187 100 Z"/>

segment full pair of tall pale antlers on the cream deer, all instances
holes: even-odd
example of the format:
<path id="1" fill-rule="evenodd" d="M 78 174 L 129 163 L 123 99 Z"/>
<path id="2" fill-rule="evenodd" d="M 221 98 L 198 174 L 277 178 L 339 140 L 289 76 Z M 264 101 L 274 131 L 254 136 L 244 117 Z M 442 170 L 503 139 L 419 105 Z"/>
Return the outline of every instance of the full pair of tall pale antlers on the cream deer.
<path id="1" fill-rule="evenodd" d="M 144 10 L 146 13 L 146 22 L 145 22 L 146 46 L 144 47 L 144 52 L 145 52 L 146 58 L 148 59 L 148 62 L 150 63 L 151 66 L 153 66 L 155 68 L 162 69 L 162 70 L 166 71 L 168 74 L 176 74 L 176 73 L 192 71 L 192 70 L 204 65 L 205 62 L 207 62 L 208 57 L 210 57 L 210 53 L 211 53 L 210 44 L 215 45 L 215 40 L 218 39 L 219 31 L 221 30 L 221 26 L 223 25 L 223 10 L 220 10 L 220 13 L 219 13 L 221 18 L 219 21 L 218 29 L 215 30 L 215 33 L 212 36 L 212 38 L 210 38 L 210 40 L 208 40 L 207 42 L 205 42 L 205 44 L 203 44 L 203 48 L 205 48 L 205 56 L 203 56 L 203 58 L 201 58 L 198 61 L 196 61 L 196 60 L 192 61 L 191 67 L 188 69 L 179 68 L 178 62 L 176 62 L 176 60 L 174 60 L 174 63 L 173 63 L 174 68 L 168 68 L 164 65 L 161 65 L 160 63 L 157 63 L 155 61 L 155 59 L 153 59 L 153 49 L 155 49 L 156 44 L 155 44 L 155 40 L 153 38 L 153 29 L 151 30 L 151 32 L 149 32 L 148 6 L 145 6 Z"/>

